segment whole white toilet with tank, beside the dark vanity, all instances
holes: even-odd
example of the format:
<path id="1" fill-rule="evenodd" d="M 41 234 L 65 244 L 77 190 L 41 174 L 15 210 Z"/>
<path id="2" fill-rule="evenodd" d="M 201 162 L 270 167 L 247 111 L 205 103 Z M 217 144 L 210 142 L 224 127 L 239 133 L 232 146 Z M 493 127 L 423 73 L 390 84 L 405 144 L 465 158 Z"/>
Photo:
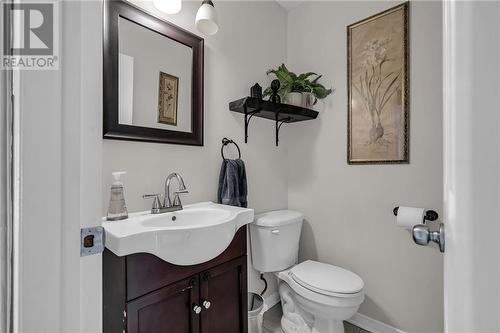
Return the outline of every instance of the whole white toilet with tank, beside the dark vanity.
<path id="1" fill-rule="evenodd" d="M 261 273 L 277 274 L 285 333 L 344 332 L 343 320 L 364 300 L 363 280 L 317 261 L 297 264 L 303 219 L 291 210 L 256 215 L 250 224 L 252 264 Z"/>

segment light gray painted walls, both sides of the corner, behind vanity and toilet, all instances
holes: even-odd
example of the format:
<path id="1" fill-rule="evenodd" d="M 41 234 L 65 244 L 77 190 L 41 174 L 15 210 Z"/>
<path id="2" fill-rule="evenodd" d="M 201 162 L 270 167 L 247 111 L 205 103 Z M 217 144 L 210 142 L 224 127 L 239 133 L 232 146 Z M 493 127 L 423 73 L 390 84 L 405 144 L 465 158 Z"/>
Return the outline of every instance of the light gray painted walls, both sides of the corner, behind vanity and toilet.
<path id="1" fill-rule="evenodd" d="M 150 2 L 139 4 L 154 11 Z M 413 244 L 392 216 L 398 204 L 442 212 L 440 3 L 411 6 L 411 163 L 346 163 L 346 26 L 395 4 L 310 2 L 291 10 L 287 21 L 274 2 L 219 2 L 221 29 L 205 39 L 205 146 L 104 140 L 103 213 L 114 170 L 128 171 L 130 211 L 149 209 L 141 195 L 161 192 L 172 171 L 182 174 L 190 190 L 185 203 L 215 200 L 220 140 L 233 138 L 247 163 L 251 207 L 260 212 L 288 205 L 304 212 L 301 257 L 358 273 L 366 284 L 361 313 L 408 332 L 443 331 L 441 255 Z M 181 13 L 165 18 L 196 33 L 198 3 L 183 5 Z M 245 45 L 252 43 L 266 51 L 250 52 Z M 267 84 L 265 71 L 285 59 L 297 72 L 324 74 L 336 91 L 319 104 L 316 121 L 283 126 L 279 148 L 274 123 L 258 118 L 245 145 L 242 117 L 227 104 L 246 96 L 253 83 Z M 250 290 L 260 291 L 250 271 Z M 276 291 L 270 282 L 267 294 Z"/>

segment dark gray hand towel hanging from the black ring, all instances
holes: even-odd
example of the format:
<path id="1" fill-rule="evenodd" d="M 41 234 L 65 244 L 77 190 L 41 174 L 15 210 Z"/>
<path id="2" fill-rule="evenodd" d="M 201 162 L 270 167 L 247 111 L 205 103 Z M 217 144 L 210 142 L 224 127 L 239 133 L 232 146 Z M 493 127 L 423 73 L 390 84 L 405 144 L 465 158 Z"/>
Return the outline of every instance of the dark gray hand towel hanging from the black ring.
<path id="1" fill-rule="evenodd" d="M 224 205 L 247 207 L 247 175 L 242 160 L 222 161 L 217 200 Z"/>

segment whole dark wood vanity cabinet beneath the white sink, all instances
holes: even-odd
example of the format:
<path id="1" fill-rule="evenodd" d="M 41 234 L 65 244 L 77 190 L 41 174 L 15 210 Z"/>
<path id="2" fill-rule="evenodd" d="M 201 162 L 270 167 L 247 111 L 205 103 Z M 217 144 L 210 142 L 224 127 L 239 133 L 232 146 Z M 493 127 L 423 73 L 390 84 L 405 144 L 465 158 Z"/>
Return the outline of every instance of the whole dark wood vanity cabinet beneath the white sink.
<path id="1" fill-rule="evenodd" d="M 221 255 L 193 266 L 106 249 L 103 332 L 246 333 L 246 228 Z"/>

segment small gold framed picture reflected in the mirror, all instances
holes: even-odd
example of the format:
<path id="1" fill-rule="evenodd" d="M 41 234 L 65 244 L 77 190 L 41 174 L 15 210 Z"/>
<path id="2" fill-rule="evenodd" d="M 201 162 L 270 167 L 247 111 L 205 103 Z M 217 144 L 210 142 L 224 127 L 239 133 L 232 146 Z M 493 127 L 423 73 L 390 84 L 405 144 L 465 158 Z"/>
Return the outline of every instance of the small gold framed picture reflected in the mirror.
<path id="1" fill-rule="evenodd" d="M 158 122 L 177 126 L 179 78 L 160 71 L 158 83 Z"/>

